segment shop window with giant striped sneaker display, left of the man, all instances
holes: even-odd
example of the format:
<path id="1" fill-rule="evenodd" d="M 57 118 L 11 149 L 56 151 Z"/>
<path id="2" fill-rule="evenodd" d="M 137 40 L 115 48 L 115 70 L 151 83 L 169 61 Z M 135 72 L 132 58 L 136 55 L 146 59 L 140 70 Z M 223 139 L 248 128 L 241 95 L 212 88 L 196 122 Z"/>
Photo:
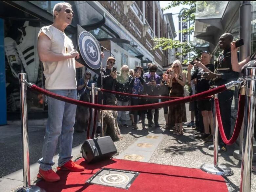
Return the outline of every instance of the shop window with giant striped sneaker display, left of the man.
<path id="1" fill-rule="evenodd" d="M 43 85 L 43 67 L 37 53 L 40 22 L 5 20 L 5 62 L 7 112 L 20 111 L 18 73 L 27 73 L 28 82 Z M 28 91 L 28 111 L 43 110 L 43 95 Z"/>

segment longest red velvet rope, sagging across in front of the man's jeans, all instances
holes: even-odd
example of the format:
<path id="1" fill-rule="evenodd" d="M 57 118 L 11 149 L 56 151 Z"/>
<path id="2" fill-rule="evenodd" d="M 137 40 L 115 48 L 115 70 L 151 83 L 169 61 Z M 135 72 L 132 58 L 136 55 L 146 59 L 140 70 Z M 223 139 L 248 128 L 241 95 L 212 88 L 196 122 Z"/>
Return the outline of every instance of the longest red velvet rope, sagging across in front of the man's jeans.
<path id="1" fill-rule="evenodd" d="M 61 95 L 57 95 L 53 92 L 47 91 L 45 89 L 39 88 L 36 85 L 32 85 L 30 87 L 32 90 L 35 90 L 37 92 L 40 92 L 44 95 L 47 95 L 49 97 L 52 97 L 54 99 L 58 99 L 60 101 L 68 102 L 71 104 L 76 104 L 76 105 L 82 105 L 90 108 L 95 108 L 95 109 L 102 109 L 102 110 L 113 110 L 113 111 L 140 111 L 140 110 L 146 110 L 146 109 L 156 109 L 156 108 L 162 108 L 166 106 L 171 106 L 171 105 L 176 105 L 176 104 L 181 104 L 181 103 L 187 103 L 199 99 L 203 99 L 205 97 L 214 95 L 216 93 L 220 93 L 224 90 L 226 90 L 226 86 L 222 85 L 219 86 L 218 88 L 213 88 L 207 91 L 204 91 L 202 93 L 197 93 L 195 95 L 191 95 L 188 97 L 182 97 L 179 99 L 171 100 L 171 101 L 165 101 L 165 102 L 160 102 L 160 103 L 154 103 L 154 104 L 145 104 L 145 105 L 132 105 L 132 106 L 113 106 L 113 105 L 101 105 L 101 104 L 92 104 L 89 102 L 83 102 L 83 101 L 78 101 L 75 99 L 71 99 L 68 97 L 64 97 Z"/>

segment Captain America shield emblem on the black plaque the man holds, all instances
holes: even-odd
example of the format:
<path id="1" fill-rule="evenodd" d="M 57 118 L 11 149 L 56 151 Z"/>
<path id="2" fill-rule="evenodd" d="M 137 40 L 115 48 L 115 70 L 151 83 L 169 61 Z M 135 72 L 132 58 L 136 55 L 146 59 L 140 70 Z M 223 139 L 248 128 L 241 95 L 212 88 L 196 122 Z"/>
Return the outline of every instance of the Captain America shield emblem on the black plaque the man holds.
<path id="1" fill-rule="evenodd" d="M 101 65 L 100 45 L 95 37 L 83 31 L 78 37 L 78 46 L 86 64 L 92 69 L 99 69 Z"/>

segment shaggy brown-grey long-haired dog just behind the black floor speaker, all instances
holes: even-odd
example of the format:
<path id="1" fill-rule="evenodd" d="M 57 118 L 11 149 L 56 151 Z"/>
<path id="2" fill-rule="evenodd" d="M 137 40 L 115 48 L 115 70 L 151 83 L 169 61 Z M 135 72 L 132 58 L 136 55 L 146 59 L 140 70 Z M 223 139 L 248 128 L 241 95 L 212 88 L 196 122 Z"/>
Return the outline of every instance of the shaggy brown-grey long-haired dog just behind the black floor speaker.
<path id="1" fill-rule="evenodd" d="M 114 95 L 106 100 L 107 105 L 117 105 L 117 99 Z M 113 141 L 122 139 L 120 129 L 117 124 L 117 111 L 103 110 L 104 134 L 112 138 Z"/>

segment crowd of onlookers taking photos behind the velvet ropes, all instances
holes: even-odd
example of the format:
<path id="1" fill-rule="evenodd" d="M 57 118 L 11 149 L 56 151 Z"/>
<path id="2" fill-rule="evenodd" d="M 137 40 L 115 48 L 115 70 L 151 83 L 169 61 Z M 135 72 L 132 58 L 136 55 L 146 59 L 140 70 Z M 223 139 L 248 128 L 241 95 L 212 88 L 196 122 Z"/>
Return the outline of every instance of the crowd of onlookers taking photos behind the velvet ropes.
<path id="1" fill-rule="evenodd" d="M 219 40 L 219 45 L 223 52 L 217 61 L 212 64 L 211 53 L 203 51 L 200 58 L 189 62 L 187 74 L 182 72 L 181 61 L 179 60 L 175 60 L 171 68 L 161 76 L 157 74 L 158 67 L 153 63 L 148 63 L 148 72 L 145 73 L 141 66 L 129 69 L 127 65 L 123 65 L 120 72 L 113 72 L 112 67 L 115 65 L 115 58 L 109 57 L 106 64 L 107 68 L 102 71 L 103 89 L 138 95 L 184 97 L 186 96 L 185 85 L 188 84 L 191 90 L 190 95 L 204 92 L 214 86 L 221 86 L 238 79 L 238 71 L 243 69 L 241 66 L 247 63 L 247 60 L 250 58 L 241 64 L 236 62 L 238 60 L 237 54 L 233 54 L 233 63 L 231 64 L 231 52 L 235 53 L 234 50 L 236 50 L 232 48 L 233 44 L 233 36 L 229 33 L 223 34 Z M 101 86 L 100 82 L 101 76 L 98 77 L 98 86 Z M 110 95 L 117 99 L 117 105 L 119 106 L 154 104 L 160 101 L 156 98 L 130 97 L 119 95 L 118 93 L 104 93 L 103 98 Z M 231 89 L 221 92 L 218 96 L 223 127 L 227 137 L 229 137 L 231 130 L 231 104 L 233 96 L 234 90 Z M 161 99 L 161 102 L 163 101 L 168 101 L 168 99 Z M 198 100 L 189 104 L 191 122 L 187 126 L 194 126 L 196 129 L 195 137 L 203 139 L 206 143 L 213 143 L 213 104 L 213 99 Z M 173 129 L 173 134 L 182 135 L 183 123 L 187 121 L 185 104 L 165 106 L 163 107 L 163 112 L 166 122 L 164 128 Z M 147 114 L 147 125 L 145 124 L 145 114 Z M 98 118 L 99 120 L 100 118 Z M 128 120 L 131 120 L 132 129 L 138 129 L 138 123 L 142 123 L 142 130 L 147 130 L 153 124 L 155 124 L 156 128 L 159 128 L 159 109 L 130 112 L 118 111 L 117 121 L 119 125 L 127 128 Z M 221 137 L 219 137 L 219 141 L 219 152 L 225 152 L 226 145 Z M 210 145 L 209 149 L 213 150 L 213 145 Z"/>

